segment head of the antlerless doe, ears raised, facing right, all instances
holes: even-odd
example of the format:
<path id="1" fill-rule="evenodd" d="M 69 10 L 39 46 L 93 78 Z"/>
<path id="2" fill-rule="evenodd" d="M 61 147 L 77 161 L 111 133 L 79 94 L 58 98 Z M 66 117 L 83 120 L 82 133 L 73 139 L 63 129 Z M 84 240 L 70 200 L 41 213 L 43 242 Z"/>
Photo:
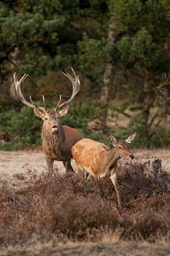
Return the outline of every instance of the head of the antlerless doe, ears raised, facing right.
<path id="1" fill-rule="evenodd" d="M 126 158 L 126 159 L 134 159 L 134 155 L 132 154 L 132 150 L 130 149 L 130 143 L 135 139 L 136 132 L 128 139 L 124 141 L 118 141 L 115 139 L 113 135 L 110 135 L 111 143 L 115 148 L 115 154 L 118 158 Z"/>

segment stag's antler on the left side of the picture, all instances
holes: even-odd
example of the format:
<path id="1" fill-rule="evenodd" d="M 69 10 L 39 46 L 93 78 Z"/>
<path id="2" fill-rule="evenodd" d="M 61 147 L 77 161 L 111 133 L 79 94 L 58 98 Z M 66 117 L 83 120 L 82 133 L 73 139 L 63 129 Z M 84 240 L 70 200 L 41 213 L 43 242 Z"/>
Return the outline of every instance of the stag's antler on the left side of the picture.
<path id="1" fill-rule="evenodd" d="M 26 78 L 28 77 L 27 74 L 24 74 L 22 76 L 22 78 L 18 81 L 16 80 L 16 73 L 13 74 L 13 84 L 15 86 L 16 89 L 16 94 L 18 95 L 18 98 L 21 100 L 21 102 L 23 102 L 24 105 L 26 105 L 27 107 L 38 107 L 38 105 L 35 104 L 35 102 L 33 102 L 31 96 L 30 96 L 30 102 L 26 101 L 26 99 L 23 97 L 23 93 L 21 91 L 21 83 L 26 80 Z M 42 95 L 42 100 L 43 100 L 43 105 L 44 107 L 38 107 L 39 110 L 41 110 L 42 112 L 45 112 L 45 97 L 44 95 Z"/>

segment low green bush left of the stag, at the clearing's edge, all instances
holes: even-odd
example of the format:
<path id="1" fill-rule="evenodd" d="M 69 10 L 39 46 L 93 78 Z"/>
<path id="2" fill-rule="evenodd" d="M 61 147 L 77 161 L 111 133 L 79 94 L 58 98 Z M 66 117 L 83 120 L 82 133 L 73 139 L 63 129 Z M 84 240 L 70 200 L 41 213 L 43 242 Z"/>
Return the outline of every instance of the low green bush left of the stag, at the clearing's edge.
<path id="1" fill-rule="evenodd" d="M 12 110 L 1 113 L 0 131 L 5 142 L 0 149 L 16 150 L 40 144 L 40 124 L 28 107 L 22 107 L 18 113 Z"/>

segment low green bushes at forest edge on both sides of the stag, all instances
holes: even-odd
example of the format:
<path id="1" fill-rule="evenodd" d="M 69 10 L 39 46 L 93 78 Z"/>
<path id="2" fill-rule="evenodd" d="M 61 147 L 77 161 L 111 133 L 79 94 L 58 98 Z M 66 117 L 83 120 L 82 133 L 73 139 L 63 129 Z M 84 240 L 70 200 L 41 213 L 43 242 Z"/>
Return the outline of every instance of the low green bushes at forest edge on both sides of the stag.
<path id="1" fill-rule="evenodd" d="M 103 130 L 103 135 L 95 134 L 88 128 L 89 120 L 94 119 L 98 105 L 94 102 L 87 102 L 84 106 L 73 103 L 69 107 L 69 112 L 62 117 L 63 125 L 74 127 L 81 132 L 84 137 L 94 139 L 98 142 L 110 145 L 109 134 L 113 134 L 116 139 L 126 139 L 133 132 L 137 136 L 132 143 L 136 148 L 159 148 L 168 147 L 170 144 L 170 130 L 158 127 L 153 137 L 147 139 L 143 134 L 143 124 L 141 116 L 132 117 L 130 124 L 125 127 L 114 127 Z M 0 139 L 4 142 L 0 144 L 0 149 L 16 150 L 41 144 L 40 132 L 42 121 L 35 117 L 33 110 L 28 107 L 21 107 L 19 112 L 6 110 L 0 114 Z"/>

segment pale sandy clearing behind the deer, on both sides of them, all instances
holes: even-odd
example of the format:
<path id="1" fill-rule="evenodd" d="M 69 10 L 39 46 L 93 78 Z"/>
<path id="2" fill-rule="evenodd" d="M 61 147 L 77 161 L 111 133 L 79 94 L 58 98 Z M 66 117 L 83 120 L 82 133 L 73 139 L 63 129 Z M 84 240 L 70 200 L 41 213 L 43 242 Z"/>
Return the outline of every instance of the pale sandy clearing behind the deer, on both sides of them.
<path id="1" fill-rule="evenodd" d="M 166 170 L 170 171 L 170 150 L 168 149 L 137 149 L 134 154 L 135 161 L 162 159 Z M 74 161 L 72 166 L 75 169 Z M 55 168 L 60 173 L 65 171 L 62 161 L 55 161 Z M 22 183 L 22 175 L 26 178 L 29 170 L 37 174 L 47 171 L 45 154 L 42 151 L 0 151 L 0 181 L 7 181 L 17 186 L 18 183 Z M 21 174 L 21 179 L 18 179 L 16 174 Z"/>

